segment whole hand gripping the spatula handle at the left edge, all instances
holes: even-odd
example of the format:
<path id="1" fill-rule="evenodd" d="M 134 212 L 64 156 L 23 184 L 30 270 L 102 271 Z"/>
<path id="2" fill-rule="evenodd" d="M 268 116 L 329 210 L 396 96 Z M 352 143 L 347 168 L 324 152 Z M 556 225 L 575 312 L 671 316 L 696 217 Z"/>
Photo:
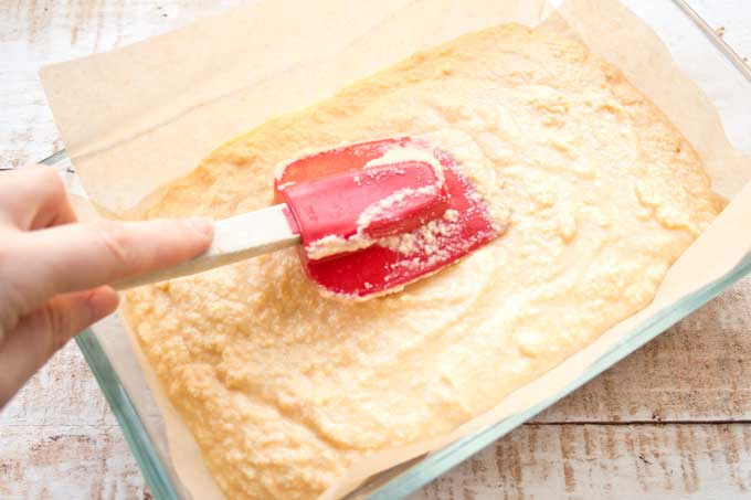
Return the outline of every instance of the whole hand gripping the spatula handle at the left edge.
<path id="1" fill-rule="evenodd" d="M 77 223 L 53 169 L 0 173 L 0 408 L 117 308 L 106 284 L 194 257 L 212 237 L 203 219 Z"/>

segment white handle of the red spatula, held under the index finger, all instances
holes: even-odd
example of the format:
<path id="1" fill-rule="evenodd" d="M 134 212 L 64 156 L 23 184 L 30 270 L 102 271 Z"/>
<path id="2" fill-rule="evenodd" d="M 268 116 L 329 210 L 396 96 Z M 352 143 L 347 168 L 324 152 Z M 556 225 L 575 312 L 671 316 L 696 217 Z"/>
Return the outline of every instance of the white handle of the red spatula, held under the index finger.
<path id="1" fill-rule="evenodd" d="M 214 223 L 214 240 L 207 252 L 174 267 L 115 283 L 118 290 L 189 276 L 300 243 L 284 215 L 285 204 L 244 213 Z"/>

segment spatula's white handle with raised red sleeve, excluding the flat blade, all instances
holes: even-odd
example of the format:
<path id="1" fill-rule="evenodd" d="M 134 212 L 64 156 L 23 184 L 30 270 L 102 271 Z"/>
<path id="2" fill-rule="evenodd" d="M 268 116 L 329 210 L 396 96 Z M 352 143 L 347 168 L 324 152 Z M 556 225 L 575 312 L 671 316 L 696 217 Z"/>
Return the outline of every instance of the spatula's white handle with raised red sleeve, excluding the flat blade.
<path id="1" fill-rule="evenodd" d="M 358 219 L 369 206 L 377 206 L 394 193 L 408 195 L 371 217 L 367 226 L 358 226 Z M 378 166 L 366 173 L 350 171 L 289 185 L 284 201 L 216 221 L 211 247 L 202 255 L 118 281 L 115 288 L 188 276 L 300 243 L 311 247 L 327 236 L 342 242 L 334 255 L 359 249 L 440 217 L 448 206 L 448 194 L 433 166 L 403 161 Z M 360 236 L 357 243 L 347 246 L 356 235 Z M 326 255 L 331 256 L 330 252 Z"/>

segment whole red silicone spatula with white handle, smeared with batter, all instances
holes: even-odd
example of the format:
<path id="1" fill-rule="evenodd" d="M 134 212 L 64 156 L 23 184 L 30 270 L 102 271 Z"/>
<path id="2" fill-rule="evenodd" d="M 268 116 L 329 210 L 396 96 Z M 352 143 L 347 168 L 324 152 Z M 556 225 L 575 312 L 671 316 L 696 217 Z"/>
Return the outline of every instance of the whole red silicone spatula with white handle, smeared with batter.
<path id="1" fill-rule="evenodd" d="M 274 184 L 278 204 L 215 222 L 203 255 L 117 283 L 130 288 L 300 246 L 325 291 L 364 299 L 395 291 L 496 236 L 452 158 L 411 138 L 363 142 L 293 161 Z"/>

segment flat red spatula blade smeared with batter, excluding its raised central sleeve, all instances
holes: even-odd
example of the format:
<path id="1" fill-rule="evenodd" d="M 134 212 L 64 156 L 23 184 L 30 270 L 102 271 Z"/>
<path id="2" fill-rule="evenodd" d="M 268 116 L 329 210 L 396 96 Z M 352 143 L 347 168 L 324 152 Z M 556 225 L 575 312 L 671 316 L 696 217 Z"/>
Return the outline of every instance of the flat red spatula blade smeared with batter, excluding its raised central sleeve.
<path id="1" fill-rule="evenodd" d="M 400 151 L 403 153 L 399 155 Z M 400 233 L 335 258 L 315 259 L 305 248 L 300 249 L 300 260 L 308 277 L 331 295 L 366 299 L 398 291 L 498 236 L 484 202 L 461 174 L 451 155 L 422 138 L 362 142 L 300 158 L 277 177 L 276 199 L 288 199 L 290 185 L 338 173 L 366 172 L 370 163 L 390 157 L 427 157 L 433 160 L 431 163 L 437 163 L 448 194 L 445 211 L 440 217 L 416 227 L 415 224 L 399 226 L 394 223 L 390 227 L 399 227 Z M 437 196 L 442 199 L 442 195 Z M 423 220 L 435 214 L 435 211 L 425 211 Z"/>

